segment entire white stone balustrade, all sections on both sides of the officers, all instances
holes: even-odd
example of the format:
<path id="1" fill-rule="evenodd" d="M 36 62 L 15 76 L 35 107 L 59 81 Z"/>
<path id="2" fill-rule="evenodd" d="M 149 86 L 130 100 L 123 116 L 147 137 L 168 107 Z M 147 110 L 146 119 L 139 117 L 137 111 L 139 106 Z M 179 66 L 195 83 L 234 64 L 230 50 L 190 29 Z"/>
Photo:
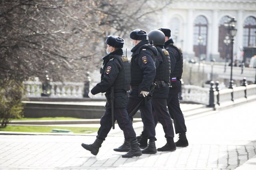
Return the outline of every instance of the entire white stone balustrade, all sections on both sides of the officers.
<path id="1" fill-rule="evenodd" d="M 90 82 L 89 89 L 96 85 L 96 82 Z M 83 98 L 83 86 L 81 82 L 50 82 L 50 98 Z M 41 97 L 42 83 L 40 81 L 24 81 L 24 90 L 27 97 Z M 215 88 L 215 85 L 213 85 Z M 246 93 L 245 93 L 246 90 Z M 256 84 L 234 87 L 233 89 L 221 89 L 219 93 L 214 91 L 215 103 L 217 95 L 219 95 L 219 103 L 231 101 L 233 92 L 234 100 L 245 98 L 246 96 L 256 95 Z M 104 93 L 99 93 L 94 96 L 95 99 L 104 99 Z M 182 101 L 196 102 L 209 105 L 210 88 L 200 87 L 196 85 L 182 86 Z"/>

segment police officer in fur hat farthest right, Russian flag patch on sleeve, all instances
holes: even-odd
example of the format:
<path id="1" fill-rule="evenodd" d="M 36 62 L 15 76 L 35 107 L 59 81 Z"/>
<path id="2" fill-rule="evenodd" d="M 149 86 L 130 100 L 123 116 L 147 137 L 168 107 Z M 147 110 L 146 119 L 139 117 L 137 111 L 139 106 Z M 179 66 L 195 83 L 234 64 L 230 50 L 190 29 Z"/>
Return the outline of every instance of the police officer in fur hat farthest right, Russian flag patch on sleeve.
<path id="1" fill-rule="evenodd" d="M 165 34 L 165 49 L 169 52 L 171 59 L 171 86 L 169 89 L 169 97 L 167 106 L 171 118 L 174 121 L 175 133 L 179 133 L 179 140 L 175 143 L 177 147 L 188 146 L 186 137 L 187 127 L 185 125 L 184 116 L 180 109 L 180 100 L 178 93 L 181 91 L 181 77 L 183 72 L 183 56 L 182 50 L 177 47 L 171 37 L 171 30 L 167 28 L 158 29 Z"/>

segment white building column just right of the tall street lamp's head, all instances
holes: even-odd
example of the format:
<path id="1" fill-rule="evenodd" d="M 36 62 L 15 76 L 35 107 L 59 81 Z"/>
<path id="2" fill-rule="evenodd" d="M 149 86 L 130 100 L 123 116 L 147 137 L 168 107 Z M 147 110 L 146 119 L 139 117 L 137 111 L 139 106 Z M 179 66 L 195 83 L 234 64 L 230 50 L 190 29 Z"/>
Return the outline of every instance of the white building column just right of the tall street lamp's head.
<path id="1" fill-rule="evenodd" d="M 237 12 L 236 28 L 237 28 L 237 33 L 235 37 L 234 53 L 237 54 L 237 60 L 242 61 L 243 57 L 241 56 L 240 47 L 243 47 L 243 10 L 239 10 Z"/>

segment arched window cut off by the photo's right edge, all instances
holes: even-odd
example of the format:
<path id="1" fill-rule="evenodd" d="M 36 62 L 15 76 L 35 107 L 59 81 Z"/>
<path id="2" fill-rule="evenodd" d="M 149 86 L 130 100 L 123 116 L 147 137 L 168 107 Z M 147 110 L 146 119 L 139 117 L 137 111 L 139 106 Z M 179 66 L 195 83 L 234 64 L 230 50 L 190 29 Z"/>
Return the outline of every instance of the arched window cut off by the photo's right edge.
<path id="1" fill-rule="evenodd" d="M 243 23 L 243 46 L 255 46 L 256 18 L 247 17 Z"/>

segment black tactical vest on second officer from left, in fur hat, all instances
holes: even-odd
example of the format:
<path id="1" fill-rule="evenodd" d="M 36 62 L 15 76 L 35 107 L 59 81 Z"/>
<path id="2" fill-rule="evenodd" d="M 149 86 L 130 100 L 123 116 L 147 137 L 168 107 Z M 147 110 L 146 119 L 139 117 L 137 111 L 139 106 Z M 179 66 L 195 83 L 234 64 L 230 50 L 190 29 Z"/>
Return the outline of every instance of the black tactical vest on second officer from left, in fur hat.
<path id="1" fill-rule="evenodd" d="M 156 56 L 154 55 L 154 53 L 149 49 L 147 48 L 147 46 L 143 46 L 141 47 L 140 51 L 142 49 L 147 49 L 150 51 L 151 53 L 151 56 L 153 58 L 153 61 L 155 62 L 156 61 Z M 140 52 L 139 52 L 140 54 Z M 137 55 L 134 55 L 132 56 L 132 59 L 131 59 L 131 85 L 139 85 L 142 83 L 142 79 L 143 79 L 143 72 L 142 70 L 139 68 L 139 61 L 138 61 L 138 56 L 139 54 Z"/>

